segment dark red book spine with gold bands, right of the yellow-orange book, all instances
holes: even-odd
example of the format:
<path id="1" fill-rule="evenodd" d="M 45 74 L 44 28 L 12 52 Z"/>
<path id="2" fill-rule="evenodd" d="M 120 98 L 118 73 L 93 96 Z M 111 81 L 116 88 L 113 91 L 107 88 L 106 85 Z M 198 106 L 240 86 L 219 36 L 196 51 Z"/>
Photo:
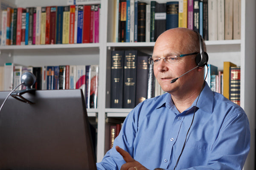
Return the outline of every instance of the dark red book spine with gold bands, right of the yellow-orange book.
<path id="1" fill-rule="evenodd" d="M 240 82 L 241 82 L 240 67 L 230 67 L 230 101 L 240 105 Z"/>

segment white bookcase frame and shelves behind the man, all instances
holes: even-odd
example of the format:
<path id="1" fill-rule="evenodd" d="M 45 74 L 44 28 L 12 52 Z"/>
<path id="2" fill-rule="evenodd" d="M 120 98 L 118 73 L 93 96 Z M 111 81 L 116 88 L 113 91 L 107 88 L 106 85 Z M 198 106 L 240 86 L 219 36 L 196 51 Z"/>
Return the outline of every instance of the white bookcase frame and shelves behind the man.
<path id="1" fill-rule="evenodd" d="M 142 0 L 150 2 L 150 0 Z M 167 2 L 167 0 L 157 0 Z M 67 0 L 9 0 L 17 7 L 65 6 Z M 256 112 L 256 2 L 241 0 L 241 40 L 207 41 L 209 63 L 223 69 L 224 61 L 241 65 L 241 107 L 250 121 L 251 150 L 244 170 L 254 169 Z M 101 161 L 108 139 L 107 118 L 124 119 L 131 109 L 110 108 L 110 53 L 118 48 L 135 48 L 152 53 L 154 42 L 112 42 L 113 0 L 101 0 L 99 43 L 72 45 L 0 46 L 0 64 L 14 62 L 23 65 L 99 65 L 98 106 L 88 109 L 97 121 L 97 161 Z"/>

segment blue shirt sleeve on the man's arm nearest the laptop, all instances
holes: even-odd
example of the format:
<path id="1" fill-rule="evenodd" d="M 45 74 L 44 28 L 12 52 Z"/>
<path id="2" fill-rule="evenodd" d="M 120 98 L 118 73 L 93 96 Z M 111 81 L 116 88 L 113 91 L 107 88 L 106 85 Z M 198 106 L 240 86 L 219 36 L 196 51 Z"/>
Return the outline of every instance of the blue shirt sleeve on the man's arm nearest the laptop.
<path id="1" fill-rule="evenodd" d="M 126 150 L 133 157 L 133 142 L 138 124 L 138 116 L 136 116 L 138 115 L 138 108 L 137 105 L 125 118 L 122 129 L 114 140 L 113 147 L 105 154 L 101 162 L 96 163 L 98 170 L 119 170 L 122 164 L 125 164 L 122 156 L 116 151 L 116 146 Z"/>

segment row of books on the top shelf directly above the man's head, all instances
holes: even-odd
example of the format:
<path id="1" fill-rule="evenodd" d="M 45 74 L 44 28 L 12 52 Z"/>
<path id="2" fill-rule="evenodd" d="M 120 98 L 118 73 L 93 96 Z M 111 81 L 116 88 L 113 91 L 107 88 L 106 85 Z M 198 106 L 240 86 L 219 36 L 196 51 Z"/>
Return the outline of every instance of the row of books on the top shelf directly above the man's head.
<path id="1" fill-rule="evenodd" d="M 177 27 L 195 30 L 205 40 L 241 37 L 241 0 L 114 0 L 113 5 L 113 42 L 154 42 Z"/>

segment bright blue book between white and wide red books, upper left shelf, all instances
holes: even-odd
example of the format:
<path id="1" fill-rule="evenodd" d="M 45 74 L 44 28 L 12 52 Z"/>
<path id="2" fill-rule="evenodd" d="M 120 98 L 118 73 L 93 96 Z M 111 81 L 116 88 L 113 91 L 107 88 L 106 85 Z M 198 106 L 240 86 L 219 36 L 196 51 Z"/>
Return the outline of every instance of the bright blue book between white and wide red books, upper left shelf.
<path id="1" fill-rule="evenodd" d="M 78 17 L 77 17 L 77 43 L 83 41 L 83 21 L 84 21 L 84 6 L 78 6 Z"/>

